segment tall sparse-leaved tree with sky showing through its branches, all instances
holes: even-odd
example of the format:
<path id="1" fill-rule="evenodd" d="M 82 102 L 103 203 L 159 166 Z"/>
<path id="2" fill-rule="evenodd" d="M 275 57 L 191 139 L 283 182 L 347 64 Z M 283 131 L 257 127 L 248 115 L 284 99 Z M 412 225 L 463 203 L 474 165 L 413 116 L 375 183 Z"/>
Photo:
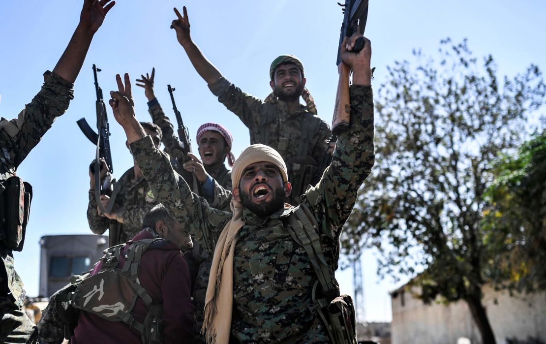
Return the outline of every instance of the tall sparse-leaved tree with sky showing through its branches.
<path id="1" fill-rule="evenodd" d="M 342 245 L 348 254 L 377 246 L 382 275 L 422 271 L 411 282 L 420 298 L 465 301 L 482 342 L 495 343 L 482 304 L 496 254 L 484 241 L 484 193 L 546 87 L 533 65 L 501 87 L 493 58 L 473 57 L 466 40 L 441 41 L 438 57 L 414 51 L 376 89 L 376 165 Z"/>

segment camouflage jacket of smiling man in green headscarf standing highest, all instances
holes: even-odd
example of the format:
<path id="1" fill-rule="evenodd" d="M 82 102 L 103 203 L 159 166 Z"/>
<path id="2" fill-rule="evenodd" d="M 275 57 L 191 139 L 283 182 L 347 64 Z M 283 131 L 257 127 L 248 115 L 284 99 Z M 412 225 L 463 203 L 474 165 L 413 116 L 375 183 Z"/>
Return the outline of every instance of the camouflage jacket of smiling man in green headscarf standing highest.
<path id="1" fill-rule="evenodd" d="M 288 168 L 292 183 L 289 203 L 300 204 L 300 195 L 316 179 L 318 165 L 328 149 L 330 127 L 304 106 L 295 114 L 288 113 L 282 100 L 265 103 L 242 92 L 225 78 L 209 85 L 212 93 L 228 110 L 239 116 L 250 132 L 250 143 L 273 147 L 280 153 Z"/>

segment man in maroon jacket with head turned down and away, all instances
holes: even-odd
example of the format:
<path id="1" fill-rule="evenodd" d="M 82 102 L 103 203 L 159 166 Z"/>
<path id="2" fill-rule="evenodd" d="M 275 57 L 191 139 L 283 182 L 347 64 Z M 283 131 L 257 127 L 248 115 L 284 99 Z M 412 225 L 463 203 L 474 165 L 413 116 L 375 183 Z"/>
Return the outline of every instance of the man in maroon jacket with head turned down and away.
<path id="1" fill-rule="evenodd" d="M 128 246 L 137 240 L 163 238 L 170 240 L 160 249 L 144 252 L 140 260 L 138 280 L 151 296 L 154 304 L 163 306 L 162 321 L 165 343 L 185 343 L 191 341 L 193 327 L 193 307 L 191 303 L 188 265 L 179 249 L 193 247 L 188 232 L 171 218 L 161 204 L 153 207 L 144 217 L 143 230 L 136 234 L 122 250 L 121 268 L 126 262 L 125 252 Z M 176 245 L 176 246 L 175 246 Z M 102 268 L 99 262 L 91 272 L 95 275 Z M 108 290 L 104 290 L 108 293 Z M 143 323 L 148 312 L 141 298 L 130 314 L 135 321 Z M 123 322 L 111 322 L 89 312 L 80 311 L 78 325 L 74 328 L 72 344 L 81 343 L 140 343 L 141 335 L 135 328 Z"/>

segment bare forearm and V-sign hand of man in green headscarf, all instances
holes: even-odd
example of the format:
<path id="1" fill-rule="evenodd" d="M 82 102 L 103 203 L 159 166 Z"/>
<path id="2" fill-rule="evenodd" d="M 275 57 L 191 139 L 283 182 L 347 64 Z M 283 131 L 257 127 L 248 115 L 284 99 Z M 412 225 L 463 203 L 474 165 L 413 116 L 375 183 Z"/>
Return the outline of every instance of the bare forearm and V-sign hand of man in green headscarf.
<path id="1" fill-rule="evenodd" d="M 201 75 L 201 78 L 206 81 L 207 84 L 213 84 L 221 78 L 222 73 L 210 63 L 209 60 L 203 55 L 198 46 L 193 43 L 191 36 L 189 35 L 189 19 L 186 6 L 182 8 L 184 15 L 174 8 L 174 13 L 177 19 L 171 23 L 171 28 L 176 31 L 176 38 L 178 39 L 182 48 L 186 50 L 186 54 L 189 57 L 189 61 L 192 62 L 193 67 L 197 70 L 197 73 Z"/>

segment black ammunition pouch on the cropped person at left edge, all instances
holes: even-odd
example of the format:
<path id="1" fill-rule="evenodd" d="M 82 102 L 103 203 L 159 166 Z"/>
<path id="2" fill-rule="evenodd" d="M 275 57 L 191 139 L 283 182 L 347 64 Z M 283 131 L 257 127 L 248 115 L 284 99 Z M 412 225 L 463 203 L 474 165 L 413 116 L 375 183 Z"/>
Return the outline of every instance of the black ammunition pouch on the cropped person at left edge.
<path id="1" fill-rule="evenodd" d="M 21 251 L 31 210 L 32 186 L 19 176 L 0 182 L 0 242 Z"/>

